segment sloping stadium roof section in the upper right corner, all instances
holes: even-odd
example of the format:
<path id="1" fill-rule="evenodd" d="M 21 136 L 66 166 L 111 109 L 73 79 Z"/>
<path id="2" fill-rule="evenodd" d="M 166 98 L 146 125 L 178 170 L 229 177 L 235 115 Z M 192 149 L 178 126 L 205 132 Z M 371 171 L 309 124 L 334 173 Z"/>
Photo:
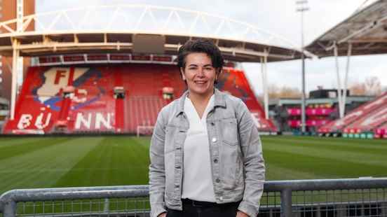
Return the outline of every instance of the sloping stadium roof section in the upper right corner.
<path id="1" fill-rule="evenodd" d="M 387 53 L 387 0 L 374 1 L 355 11 L 306 46 L 306 50 L 318 57 L 328 57 L 334 55 L 334 45 L 339 56 L 348 54 L 349 45 L 351 55 Z"/>

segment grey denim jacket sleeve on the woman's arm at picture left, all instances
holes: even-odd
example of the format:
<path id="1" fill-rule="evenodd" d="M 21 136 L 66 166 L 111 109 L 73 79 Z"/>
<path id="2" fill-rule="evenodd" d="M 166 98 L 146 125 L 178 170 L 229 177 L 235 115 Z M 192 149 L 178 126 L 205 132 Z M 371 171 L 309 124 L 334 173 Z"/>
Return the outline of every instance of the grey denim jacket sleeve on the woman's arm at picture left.
<path id="1" fill-rule="evenodd" d="M 165 167 L 164 167 L 165 120 L 163 110 L 158 113 L 154 132 L 151 137 L 149 155 L 149 200 L 151 217 L 157 217 L 165 212 Z"/>

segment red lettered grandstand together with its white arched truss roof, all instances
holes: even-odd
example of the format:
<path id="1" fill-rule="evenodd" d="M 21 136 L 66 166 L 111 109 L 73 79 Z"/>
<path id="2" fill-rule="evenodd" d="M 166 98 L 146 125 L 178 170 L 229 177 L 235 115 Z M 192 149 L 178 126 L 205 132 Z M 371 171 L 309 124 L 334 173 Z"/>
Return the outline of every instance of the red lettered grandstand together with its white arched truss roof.
<path id="1" fill-rule="evenodd" d="M 96 25 L 90 17 L 102 10 L 113 11 L 106 26 Z M 112 27 L 133 20 L 120 16 L 138 11 L 141 13 L 131 27 Z M 161 13 L 161 18 L 155 18 Z M 144 21 L 147 16 L 153 23 Z M 187 16 L 191 16 L 189 21 L 184 20 Z M 172 18 L 181 25 L 176 27 Z M 218 22 L 215 33 L 209 20 Z M 15 25 L 21 27 L 12 29 Z M 176 55 L 179 46 L 193 38 L 217 43 L 227 61 L 217 87 L 243 99 L 259 130 L 276 132 L 267 112 L 268 97 L 264 108 L 238 62 L 265 66 L 301 56 L 301 50 L 285 39 L 246 23 L 158 6 L 62 10 L 22 16 L 2 22 L 0 27 L 6 30 L 0 36 L 1 53 L 15 59 L 32 57 L 33 63 L 17 100 L 13 77 L 11 114 L 4 127 L 7 134 L 149 133 L 158 111 L 185 89 Z M 230 36 L 230 32 L 240 32 L 232 28 L 240 27 L 244 29 L 240 35 Z M 12 69 L 16 76 L 16 61 Z M 266 67 L 262 69 L 266 73 Z"/>

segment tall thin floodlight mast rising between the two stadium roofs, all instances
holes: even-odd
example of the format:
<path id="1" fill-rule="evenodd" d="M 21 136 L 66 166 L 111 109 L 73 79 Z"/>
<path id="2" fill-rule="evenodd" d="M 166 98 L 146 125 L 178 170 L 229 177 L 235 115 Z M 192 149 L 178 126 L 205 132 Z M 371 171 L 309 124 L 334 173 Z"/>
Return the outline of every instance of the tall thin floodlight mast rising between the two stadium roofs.
<path id="1" fill-rule="evenodd" d="M 306 132 L 306 123 L 305 123 L 305 55 L 304 55 L 304 12 L 308 11 L 308 0 L 297 0 L 296 1 L 297 10 L 296 12 L 301 13 L 301 132 Z"/>

